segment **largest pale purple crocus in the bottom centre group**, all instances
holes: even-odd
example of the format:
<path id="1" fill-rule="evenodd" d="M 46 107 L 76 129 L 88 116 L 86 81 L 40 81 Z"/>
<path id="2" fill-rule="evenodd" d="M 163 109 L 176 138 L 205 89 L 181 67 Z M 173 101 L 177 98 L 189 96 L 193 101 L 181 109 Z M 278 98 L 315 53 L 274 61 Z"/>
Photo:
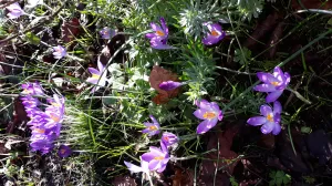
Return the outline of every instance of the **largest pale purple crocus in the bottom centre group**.
<path id="1" fill-rule="evenodd" d="M 157 170 L 158 173 L 164 172 L 169 161 L 167 147 L 160 143 L 162 149 L 158 147 L 151 146 L 148 153 L 142 155 L 142 159 L 148 162 L 148 169 Z"/>

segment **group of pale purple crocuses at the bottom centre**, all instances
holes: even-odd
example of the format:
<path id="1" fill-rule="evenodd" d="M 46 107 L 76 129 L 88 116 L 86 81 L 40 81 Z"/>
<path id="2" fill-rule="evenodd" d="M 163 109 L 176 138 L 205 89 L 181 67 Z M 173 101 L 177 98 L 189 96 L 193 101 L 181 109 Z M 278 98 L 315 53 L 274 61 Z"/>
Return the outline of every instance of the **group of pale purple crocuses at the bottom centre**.
<path id="1" fill-rule="evenodd" d="M 153 121 L 153 123 L 145 122 L 144 125 L 146 126 L 146 128 L 143 130 L 142 133 L 147 133 L 148 136 L 159 134 L 160 124 L 153 115 L 149 115 L 149 117 Z M 128 162 L 124 163 L 132 173 L 143 172 L 148 174 L 149 170 L 156 170 L 158 173 L 162 173 L 164 172 L 168 161 L 170 159 L 168 147 L 177 144 L 178 141 L 179 140 L 175 134 L 164 132 L 160 140 L 160 148 L 151 146 L 149 152 L 144 153 L 141 156 L 141 167 Z"/>

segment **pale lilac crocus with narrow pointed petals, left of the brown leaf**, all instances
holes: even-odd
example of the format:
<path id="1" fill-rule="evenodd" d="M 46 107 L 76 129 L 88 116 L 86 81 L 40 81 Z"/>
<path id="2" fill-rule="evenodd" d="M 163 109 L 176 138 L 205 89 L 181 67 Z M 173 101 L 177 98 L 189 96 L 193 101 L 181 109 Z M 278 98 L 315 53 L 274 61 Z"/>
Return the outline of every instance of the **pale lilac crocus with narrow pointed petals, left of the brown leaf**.
<path id="1" fill-rule="evenodd" d="M 106 84 L 106 75 L 107 73 L 104 72 L 105 66 L 102 64 L 102 62 L 98 60 L 97 62 L 98 70 L 94 68 L 89 68 L 89 72 L 92 74 L 91 78 L 89 78 L 86 81 L 92 84 L 96 84 L 97 86 L 93 87 L 91 92 L 97 91 L 101 86 L 105 86 Z"/>

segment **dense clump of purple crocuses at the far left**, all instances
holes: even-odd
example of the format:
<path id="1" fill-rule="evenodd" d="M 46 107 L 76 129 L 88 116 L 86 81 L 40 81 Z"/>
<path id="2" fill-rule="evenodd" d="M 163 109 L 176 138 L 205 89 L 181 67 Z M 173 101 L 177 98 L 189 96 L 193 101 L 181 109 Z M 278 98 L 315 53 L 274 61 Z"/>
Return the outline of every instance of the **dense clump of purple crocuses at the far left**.
<path id="1" fill-rule="evenodd" d="M 54 148 L 53 142 L 60 136 L 61 124 L 64 117 L 64 99 L 54 94 L 48 99 L 44 111 L 42 103 L 34 96 L 45 95 L 42 86 L 35 83 L 22 84 L 22 104 L 30 121 L 31 137 L 30 146 L 32 151 L 40 151 L 46 154 Z"/>

